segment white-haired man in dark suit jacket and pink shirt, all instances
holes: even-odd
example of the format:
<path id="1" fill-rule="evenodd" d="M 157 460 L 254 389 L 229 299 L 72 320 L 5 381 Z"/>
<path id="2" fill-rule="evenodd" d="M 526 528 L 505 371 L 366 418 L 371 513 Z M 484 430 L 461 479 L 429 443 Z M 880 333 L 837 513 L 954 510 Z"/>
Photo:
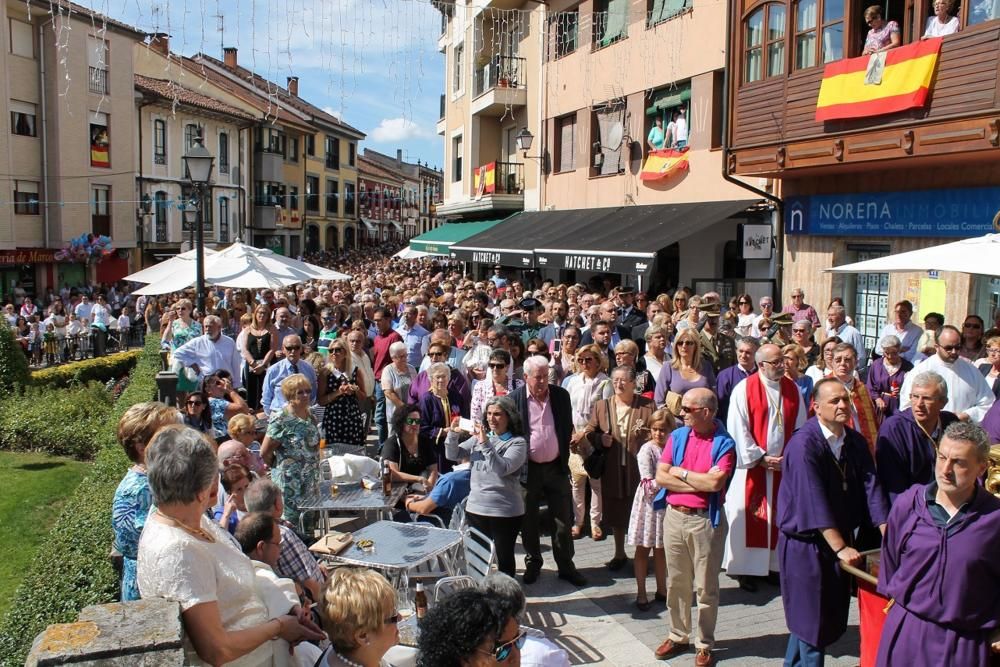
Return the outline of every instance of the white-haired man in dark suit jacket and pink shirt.
<path id="1" fill-rule="evenodd" d="M 528 440 L 528 479 L 524 500 L 521 543 L 525 551 L 524 583 L 538 580 L 542 569 L 538 514 L 542 499 L 555 521 L 552 555 L 559 578 L 584 586 L 587 580 L 573 564 L 573 503 L 569 488 L 569 442 L 573 435 L 573 408 L 569 392 L 549 384 L 549 362 L 545 357 L 524 361 L 525 384 L 511 393 Z"/>

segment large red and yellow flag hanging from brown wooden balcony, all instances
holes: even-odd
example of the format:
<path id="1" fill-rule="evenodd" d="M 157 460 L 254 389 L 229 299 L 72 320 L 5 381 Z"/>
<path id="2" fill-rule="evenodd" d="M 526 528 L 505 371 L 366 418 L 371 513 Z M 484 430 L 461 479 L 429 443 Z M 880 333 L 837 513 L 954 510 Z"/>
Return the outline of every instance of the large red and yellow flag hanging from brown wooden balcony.
<path id="1" fill-rule="evenodd" d="M 927 103 L 941 38 L 883 53 L 827 63 L 816 100 L 816 120 L 867 118 Z"/>

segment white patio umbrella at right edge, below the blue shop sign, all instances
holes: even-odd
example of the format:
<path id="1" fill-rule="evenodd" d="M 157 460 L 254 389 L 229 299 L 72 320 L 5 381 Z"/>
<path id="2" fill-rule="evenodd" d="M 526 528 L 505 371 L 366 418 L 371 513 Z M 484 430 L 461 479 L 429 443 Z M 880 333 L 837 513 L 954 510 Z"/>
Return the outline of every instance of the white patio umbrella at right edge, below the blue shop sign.
<path id="1" fill-rule="evenodd" d="M 986 234 L 854 264 L 843 264 L 826 271 L 832 273 L 956 271 L 982 276 L 1000 276 L 1000 234 Z"/>

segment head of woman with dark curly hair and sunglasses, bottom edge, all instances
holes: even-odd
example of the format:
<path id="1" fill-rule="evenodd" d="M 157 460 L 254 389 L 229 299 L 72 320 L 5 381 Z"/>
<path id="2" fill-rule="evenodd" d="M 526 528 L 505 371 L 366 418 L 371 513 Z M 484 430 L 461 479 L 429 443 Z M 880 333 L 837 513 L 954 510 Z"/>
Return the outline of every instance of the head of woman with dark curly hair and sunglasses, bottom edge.
<path id="1" fill-rule="evenodd" d="M 526 634 L 486 591 L 467 588 L 431 607 L 420 624 L 418 667 L 519 667 Z"/>

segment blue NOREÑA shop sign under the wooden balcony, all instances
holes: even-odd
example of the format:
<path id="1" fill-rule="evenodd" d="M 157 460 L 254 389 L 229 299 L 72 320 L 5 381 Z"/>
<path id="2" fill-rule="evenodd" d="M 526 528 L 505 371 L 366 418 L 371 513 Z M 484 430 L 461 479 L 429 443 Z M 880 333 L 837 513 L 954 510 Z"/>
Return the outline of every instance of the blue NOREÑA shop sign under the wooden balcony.
<path id="1" fill-rule="evenodd" d="M 858 192 L 785 199 L 785 232 L 815 236 L 981 236 L 994 230 L 1000 187 Z"/>

